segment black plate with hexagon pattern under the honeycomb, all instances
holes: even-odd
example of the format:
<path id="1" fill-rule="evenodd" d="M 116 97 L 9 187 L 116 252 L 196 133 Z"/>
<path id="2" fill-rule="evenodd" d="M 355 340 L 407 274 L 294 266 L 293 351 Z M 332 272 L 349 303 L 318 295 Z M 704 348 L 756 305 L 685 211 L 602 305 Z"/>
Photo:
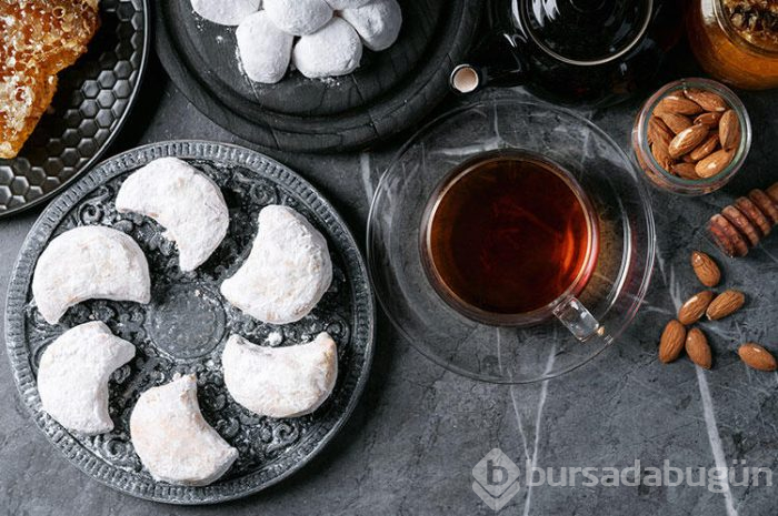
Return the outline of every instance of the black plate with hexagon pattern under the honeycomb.
<path id="1" fill-rule="evenodd" d="M 39 204 L 93 165 L 132 107 L 150 47 L 147 0 L 101 0 L 89 51 L 59 74 L 49 112 L 0 160 L 0 217 Z"/>

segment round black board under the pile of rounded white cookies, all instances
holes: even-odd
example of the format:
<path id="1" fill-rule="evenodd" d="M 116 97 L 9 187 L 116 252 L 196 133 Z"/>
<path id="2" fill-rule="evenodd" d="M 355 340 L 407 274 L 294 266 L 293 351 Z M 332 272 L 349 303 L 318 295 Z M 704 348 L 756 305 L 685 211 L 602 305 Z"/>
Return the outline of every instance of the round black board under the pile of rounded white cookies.
<path id="1" fill-rule="evenodd" d="M 157 49 L 166 70 L 216 123 L 262 146 L 345 151 L 411 125 L 448 92 L 448 75 L 476 33 L 477 0 L 399 0 L 403 26 L 382 52 L 366 51 L 352 74 L 277 84 L 241 71 L 235 28 L 203 20 L 190 0 L 154 2 Z"/>

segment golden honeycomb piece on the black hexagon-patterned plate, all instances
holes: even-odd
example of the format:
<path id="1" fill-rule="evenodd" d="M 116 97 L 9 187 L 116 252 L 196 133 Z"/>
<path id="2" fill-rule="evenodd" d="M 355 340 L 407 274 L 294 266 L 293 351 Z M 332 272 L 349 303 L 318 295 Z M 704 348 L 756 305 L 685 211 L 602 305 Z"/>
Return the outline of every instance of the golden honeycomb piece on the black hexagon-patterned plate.
<path id="1" fill-rule="evenodd" d="M 0 0 L 0 158 L 18 154 L 98 27 L 98 0 Z"/>

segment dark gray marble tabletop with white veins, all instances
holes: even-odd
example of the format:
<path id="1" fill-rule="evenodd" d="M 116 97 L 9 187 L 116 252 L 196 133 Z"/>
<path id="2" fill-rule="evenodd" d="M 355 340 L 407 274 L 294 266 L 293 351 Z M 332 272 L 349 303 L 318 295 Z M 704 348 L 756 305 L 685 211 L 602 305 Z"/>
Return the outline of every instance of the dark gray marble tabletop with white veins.
<path id="1" fill-rule="evenodd" d="M 686 61 L 684 59 L 681 62 Z M 696 73 L 676 67 L 668 78 Z M 237 141 L 203 118 L 163 72 L 152 68 L 147 93 L 112 153 L 141 143 L 182 138 Z M 517 92 L 517 94 L 521 94 Z M 475 383 L 425 360 L 380 321 L 368 388 L 342 433 L 288 480 L 250 498 L 217 507 L 171 507 L 116 493 L 71 466 L 29 419 L 0 358 L 0 514 L 491 514 L 473 493 L 473 466 L 501 448 L 520 469 L 526 461 L 553 468 L 764 467 L 778 484 L 778 374 L 747 370 L 737 344 L 761 342 L 778 352 L 778 237 L 747 259 L 719 260 L 726 284 L 748 294 L 737 317 L 707 324 L 714 370 L 687 360 L 656 360 L 659 333 L 696 283 L 691 249 L 711 251 L 700 227 L 719 208 L 751 188 L 778 180 L 778 92 L 748 93 L 755 139 L 740 174 L 722 191 L 686 199 L 652 191 L 658 266 L 647 302 L 631 330 L 590 364 L 530 386 Z M 449 102 L 450 103 L 450 102 Z M 607 111 L 582 111 L 627 149 L 639 101 Z M 272 156 L 308 178 L 363 241 L 369 199 L 401 139 L 369 152 L 339 156 Z M 250 146 L 250 145 L 249 145 Z M 39 212 L 0 221 L 0 311 L 11 265 Z M 2 323 L 0 322 L 0 325 Z M 1 328 L 0 328 L 0 334 Z M 4 355 L 4 346 L 0 351 Z M 736 463 L 737 461 L 737 463 Z M 502 514 L 697 515 L 778 514 L 778 488 L 732 482 L 707 486 L 521 485 Z M 698 473 L 695 473 L 698 477 Z M 671 478 L 672 480 L 672 478 Z M 672 482 L 670 484 L 674 484 Z M 707 484 L 707 483 L 706 483 Z"/>

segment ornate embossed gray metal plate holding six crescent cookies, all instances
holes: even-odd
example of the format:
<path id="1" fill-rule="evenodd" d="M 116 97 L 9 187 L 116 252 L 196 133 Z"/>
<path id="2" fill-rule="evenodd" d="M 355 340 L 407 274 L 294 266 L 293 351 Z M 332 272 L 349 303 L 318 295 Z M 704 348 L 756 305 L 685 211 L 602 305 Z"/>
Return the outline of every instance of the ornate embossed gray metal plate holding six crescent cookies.
<path id="1" fill-rule="evenodd" d="M 174 245 L 150 219 L 117 213 L 121 182 L 153 159 L 174 155 L 212 178 L 230 208 L 227 237 L 192 273 L 178 267 Z M 219 284 L 247 256 L 259 210 L 292 206 L 327 237 L 333 263 L 332 286 L 313 312 L 283 326 L 261 324 L 231 307 Z M 56 235 L 79 225 L 101 224 L 130 234 L 146 252 L 152 282 L 148 305 L 92 300 L 73 306 L 56 326 L 47 324 L 32 300 L 30 283 L 38 256 Z M 367 381 L 373 350 L 375 307 L 367 271 L 353 237 L 332 206 L 286 166 L 262 154 L 220 143 L 168 142 L 142 146 L 102 163 L 47 208 L 24 242 L 13 270 L 7 305 L 6 342 L 13 376 L 36 423 L 71 462 L 96 479 L 142 498 L 206 504 L 256 493 L 287 477 L 316 455 L 352 412 Z M 136 358 L 110 383 L 113 432 L 71 434 L 41 409 L 36 374 L 42 351 L 74 325 L 103 321 L 136 344 Z M 258 417 L 236 404 L 223 386 L 221 350 L 230 333 L 260 345 L 295 345 L 327 331 L 338 343 L 339 376 L 330 398 L 299 418 Z M 279 342 L 280 340 L 280 342 Z M 181 487 L 156 482 L 140 464 L 129 435 L 138 396 L 176 373 L 197 373 L 206 419 L 240 457 L 218 482 Z"/>

